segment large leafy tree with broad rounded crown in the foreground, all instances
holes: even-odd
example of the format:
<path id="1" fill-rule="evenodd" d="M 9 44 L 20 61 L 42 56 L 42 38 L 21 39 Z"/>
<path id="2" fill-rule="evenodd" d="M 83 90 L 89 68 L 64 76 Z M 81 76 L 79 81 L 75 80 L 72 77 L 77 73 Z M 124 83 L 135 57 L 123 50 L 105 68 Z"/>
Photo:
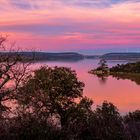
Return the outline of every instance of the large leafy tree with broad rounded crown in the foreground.
<path id="1" fill-rule="evenodd" d="M 84 84 L 65 67 L 41 67 L 19 89 L 19 103 L 38 115 L 55 116 L 66 126 L 70 110 L 82 99 Z"/>

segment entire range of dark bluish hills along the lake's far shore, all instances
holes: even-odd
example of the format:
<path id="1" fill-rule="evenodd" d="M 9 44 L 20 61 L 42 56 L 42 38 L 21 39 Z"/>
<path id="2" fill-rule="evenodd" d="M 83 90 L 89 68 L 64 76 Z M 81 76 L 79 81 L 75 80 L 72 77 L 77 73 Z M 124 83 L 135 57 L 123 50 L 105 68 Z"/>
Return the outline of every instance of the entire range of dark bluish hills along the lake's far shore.
<path id="1" fill-rule="evenodd" d="M 23 58 L 36 61 L 80 61 L 83 59 L 106 59 L 106 60 L 140 60 L 140 53 L 107 53 L 104 55 L 84 55 L 76 52 L 0 52 L 0 56 L 15 56 L 19 54 Z"/>

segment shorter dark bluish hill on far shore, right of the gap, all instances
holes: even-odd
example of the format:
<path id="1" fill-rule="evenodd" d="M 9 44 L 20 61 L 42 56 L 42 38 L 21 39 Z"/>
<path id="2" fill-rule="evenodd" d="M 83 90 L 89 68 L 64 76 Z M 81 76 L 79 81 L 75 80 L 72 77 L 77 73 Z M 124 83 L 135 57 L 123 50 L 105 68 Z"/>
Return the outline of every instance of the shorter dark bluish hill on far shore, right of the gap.
<path id="1" fill-rule="evenodd" d="M 140 53 L 107 53 L 101 58 L 106 60 L 140 60 Z"/>

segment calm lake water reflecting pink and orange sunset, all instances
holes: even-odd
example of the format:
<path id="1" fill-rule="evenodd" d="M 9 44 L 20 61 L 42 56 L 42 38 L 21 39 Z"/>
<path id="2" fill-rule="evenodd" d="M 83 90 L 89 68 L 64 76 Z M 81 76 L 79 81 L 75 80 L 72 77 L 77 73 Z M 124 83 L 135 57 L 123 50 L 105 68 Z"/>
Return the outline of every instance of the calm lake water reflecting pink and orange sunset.
<path id="1" fill-rule="evenodd" d="M 41 65 L 66 66 L 76 70 L 80 81 L 85 83 L 84 95 L 94 101 L 94 107 L 107 100 L 115 104 L 121 113 L 140 109 L 140 85 L 131 80 L 108 77 L 100 79 L 88 73 L 96 68 L 98 60 L 83 60 L 78 62 L 41 62 L 33 64 L 33 68 Z M 109 66 L 126 63 L 125 61 L 110 61 Z"/>

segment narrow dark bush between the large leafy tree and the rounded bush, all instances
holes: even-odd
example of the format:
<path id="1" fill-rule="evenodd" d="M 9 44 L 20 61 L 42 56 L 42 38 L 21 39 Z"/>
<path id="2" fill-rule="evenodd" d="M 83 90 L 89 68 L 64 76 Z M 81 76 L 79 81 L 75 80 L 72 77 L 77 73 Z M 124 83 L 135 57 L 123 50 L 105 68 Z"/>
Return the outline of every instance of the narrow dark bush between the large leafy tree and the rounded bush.
<path id="1" fill-rule="evenodd" d="M 93 101 L 87 97 L 82 98 L 77 106 L 71 108 L 68 112 L 68 121 L 65 129 L 65 138 L 67 140 L 89 140 L 92 135 L 89 130 L 89 117 L 92 113 Z"/>

